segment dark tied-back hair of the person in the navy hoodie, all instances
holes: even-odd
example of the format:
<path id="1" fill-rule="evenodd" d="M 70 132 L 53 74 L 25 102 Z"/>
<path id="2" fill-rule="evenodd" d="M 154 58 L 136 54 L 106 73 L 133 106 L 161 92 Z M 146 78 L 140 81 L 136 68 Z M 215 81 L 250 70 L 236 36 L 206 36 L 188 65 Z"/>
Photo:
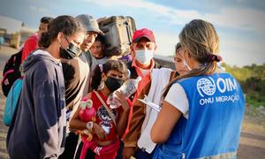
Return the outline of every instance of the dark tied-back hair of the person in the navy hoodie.
<path id="1" fill-rule="evenodd" d="M 42 33 L 38 43 L 39 47 L 48 48 L 50 43 L 57 38 L 57 34 L 60 32 L 62 32 L 65 36 L 68 36 L 78 32 L 85 32 L 85 29 L 78 20 L 71 16 L 58 16 L 49 23 L 48 32 Z"/>

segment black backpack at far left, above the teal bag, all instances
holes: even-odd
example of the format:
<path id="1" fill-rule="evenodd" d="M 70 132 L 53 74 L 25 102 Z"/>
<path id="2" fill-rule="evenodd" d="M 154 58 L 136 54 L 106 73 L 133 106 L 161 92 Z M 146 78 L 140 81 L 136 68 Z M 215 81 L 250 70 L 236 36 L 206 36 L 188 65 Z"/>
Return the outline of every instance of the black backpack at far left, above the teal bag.
<path id="1" fill-rule="evenodd" d="M 1 82 L 4 96 L 7 96 L 13 83 L 21 77 L 19 66 L 21 64 L 22 50 L 13 54 L 4 65 L 3 80 Z"/>

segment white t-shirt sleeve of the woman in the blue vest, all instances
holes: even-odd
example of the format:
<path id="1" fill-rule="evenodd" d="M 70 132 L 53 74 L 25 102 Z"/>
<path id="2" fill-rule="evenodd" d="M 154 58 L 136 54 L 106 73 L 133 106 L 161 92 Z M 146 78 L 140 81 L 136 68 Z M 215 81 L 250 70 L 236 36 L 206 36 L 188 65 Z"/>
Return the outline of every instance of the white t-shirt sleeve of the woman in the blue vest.
<path id="1" fill-rule="evenodd" d="M 178 83 L 173 84 L 164 100 L 181 111 L 184 117 L 188 118 L 189 102 L 182 86 Z"/>

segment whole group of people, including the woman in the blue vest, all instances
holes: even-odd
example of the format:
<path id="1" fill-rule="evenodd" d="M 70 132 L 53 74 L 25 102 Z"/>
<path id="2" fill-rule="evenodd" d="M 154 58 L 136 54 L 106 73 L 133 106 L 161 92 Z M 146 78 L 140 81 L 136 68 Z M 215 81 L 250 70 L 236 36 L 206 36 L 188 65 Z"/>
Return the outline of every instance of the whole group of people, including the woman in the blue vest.
<path id="1" fill-rule="evenodd" d="M 90 15 L 43 17 L 24 43 L 23 87 L 8 130 L 11 158 L 237 158 L 245 98 L 218 66 L 219 37 L 193 19 L 174 63 L 155 59 L 155 34 L 134 32 L 128 61 L 110 57 Z M 116 91 L 140 76 L 136 92 Z M 116 91 L 118 108 L 108 96 Z M 138 99 L 160 106 L 152 109 Z"/>

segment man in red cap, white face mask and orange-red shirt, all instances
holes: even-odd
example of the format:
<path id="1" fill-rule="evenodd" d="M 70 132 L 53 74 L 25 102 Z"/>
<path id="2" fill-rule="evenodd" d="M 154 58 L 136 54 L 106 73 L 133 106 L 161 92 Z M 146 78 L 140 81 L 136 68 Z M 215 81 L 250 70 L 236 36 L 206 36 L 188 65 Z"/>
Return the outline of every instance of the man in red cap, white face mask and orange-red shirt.
<path id="1" fill-rule="evenodd" d="M 155 63 L 153 59 L 154 53 L 156 49 L 155 44 L 155 35 L 153 32 L 147 28 L 142 28 L 140 30 L 136 30 L 133 34 L 133 44 L 131 45 L 131 55 L 132 55 L 132 62 L 127 64 L 128 69 L 131 72 L 130 78 L 136 79 L 138 76 L 141 77 L 141 80 L 138 84 L 138 89 L 134 95 L 130 97 L 133 101 L 133 105 L 137 102 L 138 96 L 140 92 L 143 91 L 143 88 L 150 83 L 151 76 L 150 72 L 154 68 L 160 68 L 161 65 Z M 137 110 L 136 110 L 137 111 Z M 128 127 L 126 129 L 126 134 L 124 138 L 124 146 L 123 148 L 123 155 L 124 158 L 130 158 L 131 155 L 134 155 L 137 149 L 137 137 L 135 131 L 131 129 L 131 125 L 138 125 L 136 120 L 132 120 L 134 117 L 134 109 L 131 109 L 129 120 L 128 120 Z M 143 119 L 143 118 L 142 118 Z M 133 123 L 131 122 L 133 121 Z M 140 130 L 138 131 L 140 132 Z M 145 153 L 138 151 L 140 153 Z M 148 154 L 147 154 L 148 155 Z M 143 156 L 143 155 L 140 155 Z M 145 157 L 145 156 L 143 156 Z M 145 157 L 146 158 L 146 157 Z M 148 157 L 149 158 L 149 157 Z"/>

